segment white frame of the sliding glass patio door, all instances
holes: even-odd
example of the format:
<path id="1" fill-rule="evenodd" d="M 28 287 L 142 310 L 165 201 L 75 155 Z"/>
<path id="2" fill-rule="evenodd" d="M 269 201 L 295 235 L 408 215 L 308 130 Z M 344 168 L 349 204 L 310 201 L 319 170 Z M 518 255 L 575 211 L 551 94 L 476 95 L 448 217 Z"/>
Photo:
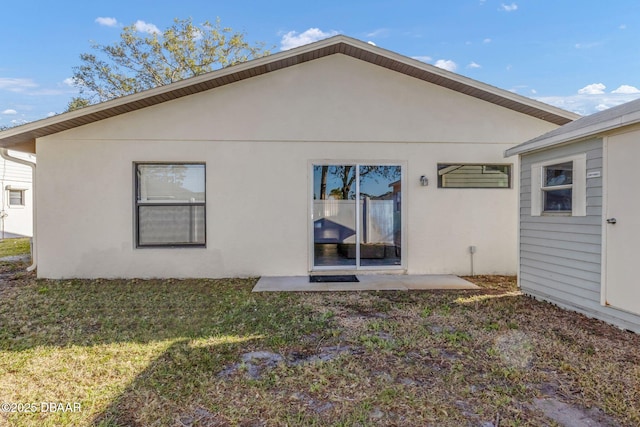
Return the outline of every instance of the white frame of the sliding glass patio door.
<path id="1" fill-rule="evenodd" d="M 400 188 L 401 188 L 401 205 L 400 205 L 400 265 L 382 265 L 382 266 L 361 266 L 360 265 L 360 245 L 359 243 L 356 245 L 356 263 L 354 266 L 316 266 L 314 265 L 314 226 L 313 226 L 313 185 L 314 185 L 314 176 L 313 176 L 313 167 L 314 166 L 324 166 L 324 165 L 353 165 L 356 169 L 359 169 L 360 166 L 368 166 L 368 165 L 380 165 L 380 166 L 400 166 Z M 308 271 L 309 272 L 318 272 L 318 271 L 391 271 L 398 272 L 407 269 L 407 247 L 408 247 L 408 238 L 407 238 L 407 211 L 408 211 L 408 189 L 406 185 L 406 176 L 407 176 L 407 162 L 404 160 L 378 160 L 378 159 L 318 159 L 318 160 L 309 160 L 307 162 L 307 254 L 308 254 Z M 360 193 L 360 182 L 358 179 L 355 181 L 356 184 L 356 194 Z M 356 203 L 356 242 L 359 242 L 362 230 L 360 230 L 360 204 Z"/>

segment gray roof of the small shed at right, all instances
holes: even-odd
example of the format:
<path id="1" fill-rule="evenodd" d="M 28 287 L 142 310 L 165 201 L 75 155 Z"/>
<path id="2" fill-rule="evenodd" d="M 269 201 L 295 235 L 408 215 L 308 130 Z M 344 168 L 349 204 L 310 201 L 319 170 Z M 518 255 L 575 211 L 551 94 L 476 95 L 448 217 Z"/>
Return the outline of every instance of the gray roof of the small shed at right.
<path id="1" fill-rule="evenodd" d="M 582 117 L 505 151 L 505 157 L 542 150 L 640 123 L 640 99 Z"/>

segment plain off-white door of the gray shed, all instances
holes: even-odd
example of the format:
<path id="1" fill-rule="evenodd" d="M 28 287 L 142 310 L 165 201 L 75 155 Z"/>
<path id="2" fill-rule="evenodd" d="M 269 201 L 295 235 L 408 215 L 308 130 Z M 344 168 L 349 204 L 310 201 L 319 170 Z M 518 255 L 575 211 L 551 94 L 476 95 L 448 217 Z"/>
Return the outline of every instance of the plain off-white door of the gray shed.
<path id="1" fill-rule="evenodd" d="M 631 132 L 609 137 L 606 150 L 604 302 L 640 314 L 640 135 Z"/>

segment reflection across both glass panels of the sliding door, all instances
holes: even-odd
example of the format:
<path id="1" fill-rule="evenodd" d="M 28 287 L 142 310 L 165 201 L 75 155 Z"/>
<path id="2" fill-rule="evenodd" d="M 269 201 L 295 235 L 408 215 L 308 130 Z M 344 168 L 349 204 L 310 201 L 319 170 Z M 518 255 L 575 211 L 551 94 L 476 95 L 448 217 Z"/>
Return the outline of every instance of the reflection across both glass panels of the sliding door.
<path id="1" fill-rule="evenodd" d="M 313 266 L 401 265 L 399 165 L 313 166 Z"/>

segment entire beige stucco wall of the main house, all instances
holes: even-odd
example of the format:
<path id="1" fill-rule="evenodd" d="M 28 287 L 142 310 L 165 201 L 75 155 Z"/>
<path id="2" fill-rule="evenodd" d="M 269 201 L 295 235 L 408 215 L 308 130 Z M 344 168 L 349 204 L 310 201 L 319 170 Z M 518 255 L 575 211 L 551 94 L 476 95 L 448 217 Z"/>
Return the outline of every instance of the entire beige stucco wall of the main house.
<path id="1" fill-rule="evenodd" d="M 468 274 L 470 245 L 476 273 L 515 273 L 516 174 L 439 189 L 437 163 L 512 163 L 506 148 L 555 127 L 333 55 L 40 138 L 38 275 L 307 274 L 310 162 L 327 160 L 403 165 L 408 273 Z M 136 161 L 206 163 L 206 248 L 135 248 Z"/>

